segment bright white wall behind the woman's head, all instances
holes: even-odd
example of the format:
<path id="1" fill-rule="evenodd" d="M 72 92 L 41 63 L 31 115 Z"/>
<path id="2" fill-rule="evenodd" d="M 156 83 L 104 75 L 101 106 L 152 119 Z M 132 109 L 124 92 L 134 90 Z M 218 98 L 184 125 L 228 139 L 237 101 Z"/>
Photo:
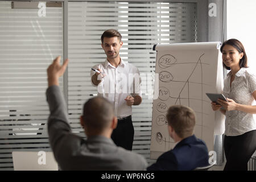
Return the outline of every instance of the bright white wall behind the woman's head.
<path id="1" fill-rule="evenodd" d="M 250 69 L 256 73 L 256 1 L 227 0 L 227 39 L 238 39 L 245 47 Z"/>

